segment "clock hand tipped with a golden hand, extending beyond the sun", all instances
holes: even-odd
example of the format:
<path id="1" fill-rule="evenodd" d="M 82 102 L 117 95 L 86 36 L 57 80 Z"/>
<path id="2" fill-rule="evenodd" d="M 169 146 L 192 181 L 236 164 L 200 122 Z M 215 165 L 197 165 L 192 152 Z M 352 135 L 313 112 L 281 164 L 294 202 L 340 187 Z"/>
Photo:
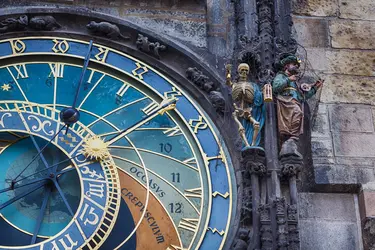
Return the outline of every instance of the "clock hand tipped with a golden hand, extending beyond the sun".
<path id="1" fill-rule="evenodd" d="M 154 118 L 155 116 L 157 116 L 159 114 L 163 115 L 166 111 L 174 109 L 176 107 L 176 101 L 177 101 L 176 98 L 164 99 L 160 103 L 159 108 L 157 108 L 156 110 L 151 112 L 151 114 L 149 116 L 146 116 L 145 118 L 143 118 L 142 120 L 134 123 L 130 127 L 121 130 L 117 135 L 113 136 L 112 138 L 110 138 L 109 140 L 107 140 L 105 142 L 107 143 L 107 145 L 111 145 L 114 142 L 121 139 L 122 137 L 124 137 L 125 135 L 129 134 L 130 132 L 136 130 L 137 128 L 139 128 L 140 126 L 142 126 L 143 124 L 145 124 L 146 122 L 148 122 L 149 120 Z"/>

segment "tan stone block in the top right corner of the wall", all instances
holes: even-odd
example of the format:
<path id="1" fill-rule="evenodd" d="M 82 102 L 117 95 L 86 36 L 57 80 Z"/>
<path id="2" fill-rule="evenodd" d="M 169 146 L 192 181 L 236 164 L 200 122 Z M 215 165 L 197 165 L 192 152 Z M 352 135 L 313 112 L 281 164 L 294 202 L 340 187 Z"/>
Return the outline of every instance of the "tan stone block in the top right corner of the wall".
<path id="1" fill-rule="evenodd" d="M 341 18 L 375 20 L 375 2 L 371 0 L 339 0 Z"/>

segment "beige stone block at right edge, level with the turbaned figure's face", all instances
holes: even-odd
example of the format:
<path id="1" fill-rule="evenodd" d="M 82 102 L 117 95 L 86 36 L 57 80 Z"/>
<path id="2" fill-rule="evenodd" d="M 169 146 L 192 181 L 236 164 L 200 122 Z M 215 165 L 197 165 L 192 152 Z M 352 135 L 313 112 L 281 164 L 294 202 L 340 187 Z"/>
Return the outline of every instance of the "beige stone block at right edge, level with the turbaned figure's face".
<path id="1" fill-rule="evenodd" d="M 374 76 L 375 51 L 363 50 L 327 50 L 328 73 L 345 75 Z"/>

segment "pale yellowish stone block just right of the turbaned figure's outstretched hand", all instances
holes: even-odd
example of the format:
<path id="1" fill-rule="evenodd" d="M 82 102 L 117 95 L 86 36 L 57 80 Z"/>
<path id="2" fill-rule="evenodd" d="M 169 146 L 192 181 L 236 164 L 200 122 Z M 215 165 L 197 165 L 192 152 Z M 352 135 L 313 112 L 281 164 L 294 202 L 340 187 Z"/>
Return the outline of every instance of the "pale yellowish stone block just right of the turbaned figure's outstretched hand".
<path id="1" fill-rule="evenodd" d="M 325 74 L 321 101 L 375 105 L 375 77 Z"/>

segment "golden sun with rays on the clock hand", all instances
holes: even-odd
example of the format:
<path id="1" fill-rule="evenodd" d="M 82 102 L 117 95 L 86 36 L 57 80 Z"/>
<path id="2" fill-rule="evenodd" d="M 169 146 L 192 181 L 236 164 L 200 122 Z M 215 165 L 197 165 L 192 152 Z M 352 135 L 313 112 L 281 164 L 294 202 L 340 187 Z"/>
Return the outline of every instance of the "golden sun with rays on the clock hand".
<path id="1" fill-rule="evenodd" d="M 86 138 L 83 144 L 83 154 L 91 159 L 100 160 L 109 155 L 107 143 L 94 135 Z"/>

